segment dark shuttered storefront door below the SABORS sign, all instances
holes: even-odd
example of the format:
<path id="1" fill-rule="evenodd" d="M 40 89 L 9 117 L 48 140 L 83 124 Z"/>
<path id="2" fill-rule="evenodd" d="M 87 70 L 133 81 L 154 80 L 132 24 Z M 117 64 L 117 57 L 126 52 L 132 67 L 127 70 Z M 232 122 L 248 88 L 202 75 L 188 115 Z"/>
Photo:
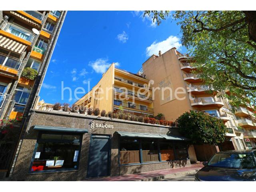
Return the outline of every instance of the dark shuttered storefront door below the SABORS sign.
<path id="1" fill-rule="evenodd" d="M 87 178 L 110 175 L 110 151 L 110 135 L 91 135 Z"/>

